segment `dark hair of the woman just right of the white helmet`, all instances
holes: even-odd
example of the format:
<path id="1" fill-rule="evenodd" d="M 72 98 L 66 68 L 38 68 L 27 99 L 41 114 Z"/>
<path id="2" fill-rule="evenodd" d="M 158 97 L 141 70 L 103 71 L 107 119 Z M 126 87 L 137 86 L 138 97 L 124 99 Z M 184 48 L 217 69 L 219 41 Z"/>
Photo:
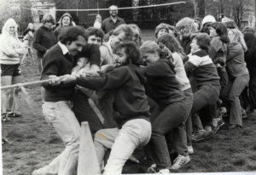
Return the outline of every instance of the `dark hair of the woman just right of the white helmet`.
<path id="1" fill-rule="evenodd" d="M 212 23 L 212 27 L 216 30 L 216 33 L 218 34 L 218 36 L 220 37 L 220 40 L 222 42 L 224 42 L 224 43 L 230 42 L 230 38 L 228 35 L 228 29 L 227 29 L 226 25 L 224 25 L 224 23 L 214 22 L 214 23 Z"/>

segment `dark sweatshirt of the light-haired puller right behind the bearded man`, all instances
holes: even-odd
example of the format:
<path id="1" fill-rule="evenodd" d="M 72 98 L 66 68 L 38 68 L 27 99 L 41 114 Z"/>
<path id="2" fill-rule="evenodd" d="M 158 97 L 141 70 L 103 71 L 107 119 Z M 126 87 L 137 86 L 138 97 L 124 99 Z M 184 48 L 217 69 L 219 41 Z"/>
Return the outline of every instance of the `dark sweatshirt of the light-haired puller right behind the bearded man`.
<path id="1" fill-rule="evenodd" d="M 146 93 L 160 108 L 184 98 L 182 85 L 177 81 L 173 68 L 174 65 L 167 59 L 160 59 L 142 68 L 144 75 L 148 77 Z"/>

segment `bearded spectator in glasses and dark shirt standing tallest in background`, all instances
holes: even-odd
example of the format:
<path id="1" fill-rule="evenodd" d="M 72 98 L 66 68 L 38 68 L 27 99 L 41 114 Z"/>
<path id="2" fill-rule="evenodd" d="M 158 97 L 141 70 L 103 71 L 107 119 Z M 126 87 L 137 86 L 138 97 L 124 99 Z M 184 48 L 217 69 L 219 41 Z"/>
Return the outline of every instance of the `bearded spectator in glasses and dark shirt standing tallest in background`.
<path id="1" fill-rule="evenodd" d="M 125 24 L 125 20 L 118 16 L 118 7 L 112 5 L 109 7 L 110 16 L 102 21 L 102 30 L 105 33 L 115 29 L 118 25 Z"/>

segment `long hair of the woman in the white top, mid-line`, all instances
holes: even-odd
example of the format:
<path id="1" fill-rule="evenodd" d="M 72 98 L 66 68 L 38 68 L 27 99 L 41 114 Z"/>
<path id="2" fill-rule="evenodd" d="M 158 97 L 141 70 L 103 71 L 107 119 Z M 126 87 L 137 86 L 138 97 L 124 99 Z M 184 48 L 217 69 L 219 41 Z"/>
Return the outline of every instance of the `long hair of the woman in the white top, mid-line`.
<path id="1" fill-rule="evenodd" d="M 157 39 L 156 42 L 158 44 L 162 42 L 166 46 L 166 48 L 168 48 L 172 53 L 177 52 L 179 54 L 182 54 L 183 56 L 186 55 L 183 51 L 183 47 L 181 47 L 177 39 L 170 34 L 162 35 Z"/>

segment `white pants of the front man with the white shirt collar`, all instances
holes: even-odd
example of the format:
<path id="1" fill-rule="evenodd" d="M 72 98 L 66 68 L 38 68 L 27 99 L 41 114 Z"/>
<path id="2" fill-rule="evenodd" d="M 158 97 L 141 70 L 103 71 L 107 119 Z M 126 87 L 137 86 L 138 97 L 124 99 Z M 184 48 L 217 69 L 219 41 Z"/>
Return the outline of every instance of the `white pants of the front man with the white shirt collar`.
<path id="1" fill-rule="evenodd" d="M 44 102 L 43 104 L 45 120 L 55 128 L 66 145 L 61 155 L 44 167 L 46 174 L 72 175 L 76 173 L 81 127 L 71 108 L 69 101 Z"/>

